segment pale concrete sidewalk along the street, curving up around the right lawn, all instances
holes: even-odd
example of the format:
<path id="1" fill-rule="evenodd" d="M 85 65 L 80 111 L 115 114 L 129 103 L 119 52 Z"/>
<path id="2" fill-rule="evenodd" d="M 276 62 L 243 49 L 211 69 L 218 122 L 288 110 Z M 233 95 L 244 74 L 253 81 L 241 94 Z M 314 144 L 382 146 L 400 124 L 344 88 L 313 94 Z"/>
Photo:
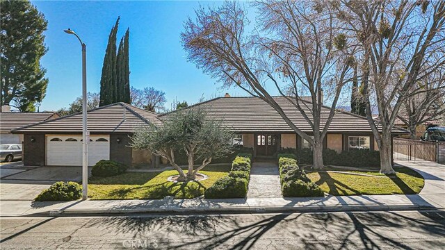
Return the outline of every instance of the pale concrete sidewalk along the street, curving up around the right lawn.
<path id="1" fill-rule="evenodd" d="M 426 161 L 396 162 L 425 178 L 420 194 L 316 198 L 164 199 L 38 202 L 1 201 L 1 216 L 116 215 L 129 213 L 291 213 L 325 211 L 418 210 L 445 208 L 445 165 Z"/>

